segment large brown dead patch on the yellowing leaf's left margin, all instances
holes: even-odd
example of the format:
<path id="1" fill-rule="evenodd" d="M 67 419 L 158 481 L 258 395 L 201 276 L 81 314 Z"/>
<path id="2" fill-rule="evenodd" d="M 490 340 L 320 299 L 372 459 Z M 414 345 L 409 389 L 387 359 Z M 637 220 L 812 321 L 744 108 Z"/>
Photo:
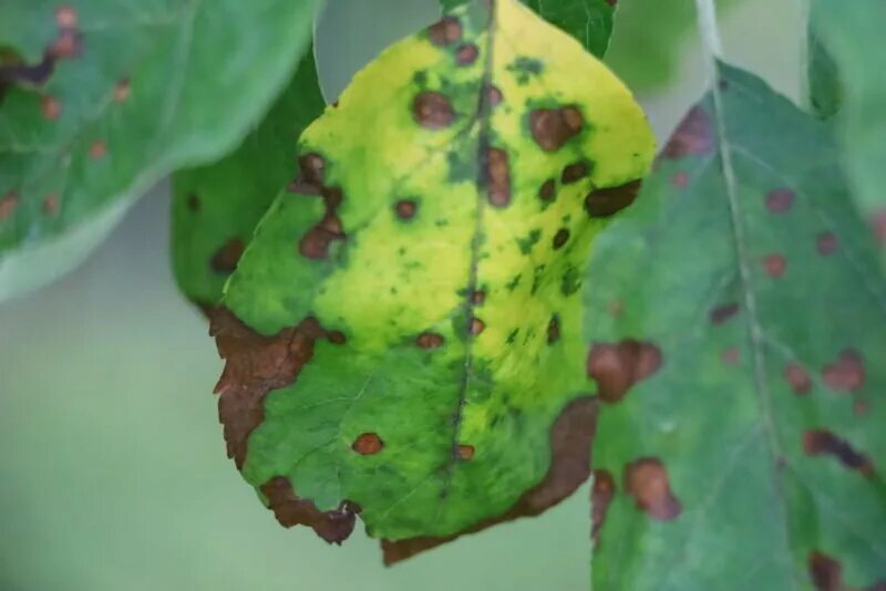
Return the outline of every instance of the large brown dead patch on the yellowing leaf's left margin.
<path id="1" fill-rule="evenodd" d="M 226 362 L 215 386 L 219 394 L 218 416 L 225 425 L 228 457 L 243 468 L 249 434 L 265 418 L 265 396 L 295 382 L 313 357 L 317 340 L 329 333 L 315 318 L 265 336 L 226 308 L 212 310 L 209 315 L 209 334 L 215 336 L 218 353 Z"/>

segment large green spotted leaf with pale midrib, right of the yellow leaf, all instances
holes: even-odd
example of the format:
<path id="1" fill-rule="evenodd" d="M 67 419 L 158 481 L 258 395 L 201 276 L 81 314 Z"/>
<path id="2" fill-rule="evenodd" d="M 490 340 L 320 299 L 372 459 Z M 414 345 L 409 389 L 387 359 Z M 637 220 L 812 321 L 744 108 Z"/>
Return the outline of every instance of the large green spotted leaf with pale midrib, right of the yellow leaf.
<path id="1" fill-rule="evenodd" d="M 586 281 L 594 582 L 883 584 L 886 283 L 828 128 L 718 70 Z"/>

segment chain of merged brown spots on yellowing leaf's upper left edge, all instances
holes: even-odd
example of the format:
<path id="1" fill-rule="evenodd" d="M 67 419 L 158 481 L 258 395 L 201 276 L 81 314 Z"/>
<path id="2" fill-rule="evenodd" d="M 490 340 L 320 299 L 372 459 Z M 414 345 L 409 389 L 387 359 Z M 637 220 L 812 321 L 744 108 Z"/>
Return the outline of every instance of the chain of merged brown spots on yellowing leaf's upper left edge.
<path id="1" fill-rule="evenodd" d="M 319 154 L 306 154 L 299 158 L 299 177 L 290 185 L 290 188 L 305 195 L 320 195 L 323 198 L 326 211 L 322 219 L 298 242 L 298 251 L 302 256 L 323 260 L 329 257 L 329 247 L 333 240 L 343 240 L 344 230 L 341 220 L 336 212 L 343 198 L 341 189 L 338 187 L 327 187 L 326 160 Z"/>

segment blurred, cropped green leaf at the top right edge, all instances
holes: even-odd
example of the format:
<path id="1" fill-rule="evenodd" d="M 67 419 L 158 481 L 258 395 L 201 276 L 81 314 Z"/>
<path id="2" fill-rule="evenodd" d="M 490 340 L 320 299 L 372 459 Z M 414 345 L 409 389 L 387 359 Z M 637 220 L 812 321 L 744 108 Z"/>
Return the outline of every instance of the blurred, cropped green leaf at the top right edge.
<path id="1" fill-rule="evenodd" d="M 886 43 L 880 0 L 814 0 L 813 29 L 836 63 L 843 86 L 839 128 L 858 206 L 886 263 Z"/>

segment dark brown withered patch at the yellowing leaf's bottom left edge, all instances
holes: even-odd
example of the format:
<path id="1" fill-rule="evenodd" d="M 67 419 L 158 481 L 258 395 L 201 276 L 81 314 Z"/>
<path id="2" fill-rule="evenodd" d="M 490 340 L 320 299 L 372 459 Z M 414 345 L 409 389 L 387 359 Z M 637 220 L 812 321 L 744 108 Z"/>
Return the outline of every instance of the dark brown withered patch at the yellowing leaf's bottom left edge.
<path id="1" fill-rule="evenodd" d="M 313 501 L 296 496 L 288 478 L 278 476 L 261 486 L 268 499 L 268 509 L 274 511 L 281 526 L 308 526 L 329 543 L 340 545 L 353 531 L 356 515 L 360 507 L 344 500 L 338 509 L 321 511 Z"/>

